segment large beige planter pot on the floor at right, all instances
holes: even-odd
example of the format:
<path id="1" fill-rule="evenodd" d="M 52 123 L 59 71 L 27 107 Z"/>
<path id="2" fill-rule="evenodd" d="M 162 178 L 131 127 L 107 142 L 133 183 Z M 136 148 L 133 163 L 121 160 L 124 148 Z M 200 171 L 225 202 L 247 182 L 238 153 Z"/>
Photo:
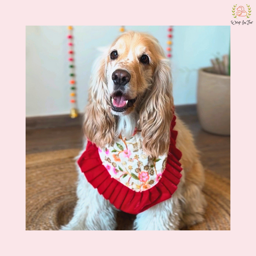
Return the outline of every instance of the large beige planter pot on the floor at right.
<path id="1" fill-rule="evenodd" d="M 202 128 L 213 134 L 230 135 L 230 76 L 198 71 L 197 112 Z"/>

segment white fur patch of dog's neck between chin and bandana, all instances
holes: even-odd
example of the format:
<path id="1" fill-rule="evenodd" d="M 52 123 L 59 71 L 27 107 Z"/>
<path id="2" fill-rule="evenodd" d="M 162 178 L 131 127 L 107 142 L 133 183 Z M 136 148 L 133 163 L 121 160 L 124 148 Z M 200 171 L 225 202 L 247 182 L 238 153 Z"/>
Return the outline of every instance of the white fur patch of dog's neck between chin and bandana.
<path id="1" fill-rule="evenodd" d="M 129 115 L 119 116 L 117 122 L 116 137 L 122 134 L 129 140 L 134 134 L 135 127 L 138 126 L 138 113 L 134 111 Z"/>

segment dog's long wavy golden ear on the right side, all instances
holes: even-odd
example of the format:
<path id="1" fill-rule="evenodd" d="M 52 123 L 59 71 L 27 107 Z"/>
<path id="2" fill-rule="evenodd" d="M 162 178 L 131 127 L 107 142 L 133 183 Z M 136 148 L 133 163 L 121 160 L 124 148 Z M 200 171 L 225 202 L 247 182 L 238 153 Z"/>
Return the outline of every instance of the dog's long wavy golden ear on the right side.
<path id="1" fill-rule="evenodd" d="M 161 58 L 140 111 L 143 148 L 151 157 L 168 152 L 172 110 L 171 68 L 169 62 Z"/>

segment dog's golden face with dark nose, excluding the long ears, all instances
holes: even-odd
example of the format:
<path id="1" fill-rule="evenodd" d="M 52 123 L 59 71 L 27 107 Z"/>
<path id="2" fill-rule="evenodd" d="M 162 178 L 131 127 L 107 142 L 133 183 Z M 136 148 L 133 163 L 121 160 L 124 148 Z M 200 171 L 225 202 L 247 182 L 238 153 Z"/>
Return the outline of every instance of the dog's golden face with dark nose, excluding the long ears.
<path id="1" fill-rule="evenodd" d="M 109 49 L 107 84 L 111 112 L 130 114 L 152 85 L 157 63 L 152 38 L 142 34 L 124 34 Z"/>

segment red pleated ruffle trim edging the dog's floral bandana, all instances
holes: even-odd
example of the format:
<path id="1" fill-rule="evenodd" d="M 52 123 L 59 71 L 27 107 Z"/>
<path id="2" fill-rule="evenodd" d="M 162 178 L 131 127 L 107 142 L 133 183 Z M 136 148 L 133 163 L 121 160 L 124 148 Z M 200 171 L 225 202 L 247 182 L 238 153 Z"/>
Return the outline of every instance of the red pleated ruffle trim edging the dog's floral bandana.
<path id="1" fill-rule="evenodd" d="M 102 165 L 98 154 L 98 147 L 88 141 L 85 152 L 78 160 L 78 165 L 85 177 L 98 193 L 109 200 L 116 208 L 131 214 L 138 214 L 146 209 L 163 202 L 173 195 L 180 182 L 182 174 L 181 163 L 179 160 L 182 153 L 176 148 L 177 131 L 173 131 L 176 124 L 176 116 L 171 121 L 171 143 L 167 158 L 166 168 L 162 178 L 152 188 L 135 192 L 111 178 L 107 169 Z"/>

